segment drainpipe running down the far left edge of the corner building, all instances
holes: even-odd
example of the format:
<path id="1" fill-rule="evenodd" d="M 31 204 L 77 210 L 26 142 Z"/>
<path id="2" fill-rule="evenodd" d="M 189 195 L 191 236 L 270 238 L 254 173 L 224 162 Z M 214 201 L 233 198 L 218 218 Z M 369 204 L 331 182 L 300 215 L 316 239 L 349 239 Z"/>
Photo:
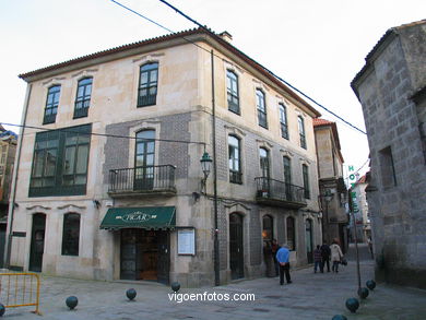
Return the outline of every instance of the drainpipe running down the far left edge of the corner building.
<path id="1" fill-rule="evenodd" d="M 9 198 L 10 201 L 10 208 L 8 213 L 8 237 L 7 237 L 7 245 L 5 245 L 5 259 L 4 259 L 4 266 L 7 269 L 10 268 L 10 256 L 11 256 L 11 249 L 12 249 L 12 230 L 13 230 L 13 215 L 14 215 L 14 209 L 15 209 L 15 199 L 16 199 L 16 183 L 17 183 L 17 173 L 20 169 L 20 162 L 21 162 L 21 153 L 22 153 L 22 142 L 24 140 L 24 131 L 25 131 L 25 125 L 26 125 L 26 115 L 28 112 L 28 104 L 29 104 L 29 96 L 33 85 L 28 84 L 26 90 L 26 96 L 25 96 L 25 103 L 24 103 L 24 110 L 23 110 L 23 120 L 22 120 L 22 127 L 20 132 L 20 143 L 17 146 L 17 156 L 15 158 L 15 166 L 13 169 L 13 178 L 12 178 L 12 192 L 11 197 Z"/>

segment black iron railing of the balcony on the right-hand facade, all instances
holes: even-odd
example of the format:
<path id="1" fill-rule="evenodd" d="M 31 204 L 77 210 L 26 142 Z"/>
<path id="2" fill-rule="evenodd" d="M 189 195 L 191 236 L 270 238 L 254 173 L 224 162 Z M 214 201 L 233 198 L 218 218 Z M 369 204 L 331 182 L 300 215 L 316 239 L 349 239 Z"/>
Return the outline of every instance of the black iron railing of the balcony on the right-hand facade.
<path id="1" fill-rule="evenodd" d="M 257 186 L 256 198 L 270 199 L 283 202 L 299 203 L 306 205 L 305 189 L 299 186 L 274 180 L 268 177 L 255 178 Z"/>

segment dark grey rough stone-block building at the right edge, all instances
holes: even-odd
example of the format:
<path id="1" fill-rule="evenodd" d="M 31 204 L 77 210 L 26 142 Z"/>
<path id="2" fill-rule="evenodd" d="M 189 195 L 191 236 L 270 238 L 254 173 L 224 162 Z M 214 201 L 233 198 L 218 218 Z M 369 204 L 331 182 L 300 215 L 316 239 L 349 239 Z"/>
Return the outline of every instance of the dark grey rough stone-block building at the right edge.
<path id="1" fill-rule="evenodd" d="M 426 21 L 390 28 L 352 82 L 371 158 L 377 276 L 426 287 Z"/>

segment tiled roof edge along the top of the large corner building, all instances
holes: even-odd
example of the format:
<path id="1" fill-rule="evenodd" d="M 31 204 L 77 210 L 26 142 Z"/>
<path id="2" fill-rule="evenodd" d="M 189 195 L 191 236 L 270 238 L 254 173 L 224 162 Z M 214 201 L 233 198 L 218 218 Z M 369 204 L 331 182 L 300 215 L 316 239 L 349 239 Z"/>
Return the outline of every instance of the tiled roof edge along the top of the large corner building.
<path id="1" fill-rule="evenodd" d="M 270 81 L 272 81 L 274 84 L 276 84 L 279 87 L 281 87 L 283 91 L 288 93 L 294 99 L 296 99 L 297 102 L 303 104 L 305 107 L 307 107 L 315 115 L 315 117 L 320 117 L 321 116 L 321 114 L 317 109 L 315 109 L 311 105 L 309 105 L 305 99 L 303 99 L 293 90 L 291 90 L 285 83 L 283 83 L 276 76 L 274 76 L 271 73 L 271 71 L 269 71 L 267 68 L 264 68 L 263 66 L 261 66 L 260 63 L 255 61 L 252 58 L 250 58 L 249 56 L 247 56 L 246 54 L 244 54 L 242 51 L 240 51 L 239 49 L 234 47 L 228 42 L 222 39 L 214 32 L 212 32 L 212 31 L 210 31 L 208 28 L 202 28 L 202 27 L 188 29 L 188 31 L 182 31 L 182 32 L 174 33 L 174 34 L 168 34 L 168 35 L 161 36 L 161 37 L 155 37 L 155 38 L 141 40 L 141 42 L 138 42 L 138 43 L 133 43 L 133 44 L 123 45 L 123 46 L 115 47 L 115 48 L 111 48 L 111 49 L 98 51 L 98 52 L 95 52 L 95 54 L 92 54 L 92 55 L 79 57 L 79 58 L 75 58 L 75 59 L 71 59 L 71 60 L 68 60 L 68 61 L 64 61 L 64 62 L 56 63 L 56 64 L 52 64 L 52 66 L 49 66 L 49 67 L 46 67 L 46 68 L 42 68 L 42 69 L 38 69 L 38 70 L 34 70 L 34 71 L 31 71 L 31 72 L 22 73 L 19 76 L 21 79 L 27 81 L 27 82 L 31 82 L 31 78 L 32 76 L 42 75 L 44 72 L 54 72 L 57 69 L 71 67 L 71 66 L 79 67 L 79 63 L 82 63 L 82 62 L 86 62 L 87 63 L 88 61 L 97 59 L 97 58 L 103 58 L 103 57 L 107 57 L 107 56 L 115 55 L 115 54 L 121 54 L 121 52 L 126 52 L 126 51 L 131 51 L 131 50 L 138 49 L 138 48 L 143 47 L 143 46 L 147 46 L 147 45 L 161 44 L 161 43 L 165 43 L 165 42 L 169 42 L 169 40 L 174 40 L 174 39 L 179 39 L 179 38 L 184 38 L 185 39 L 186 37 L 189 37 L 189 36 L 192 36 L 192 35 L 199 35 L 199 34 L 204 34 L 204 35 L 211 36 L 223 48 L 225 48 L 225 49 L 229 50 L 232 54 L 238 56 L 239 59 L 242 59 L 250 67 L 256 69 L 258 72 L 260 72 L 262 75 L 267 76 Z M 188 39 L 188 43 L 192 43 L 192 42 L 190 39 Z"/>

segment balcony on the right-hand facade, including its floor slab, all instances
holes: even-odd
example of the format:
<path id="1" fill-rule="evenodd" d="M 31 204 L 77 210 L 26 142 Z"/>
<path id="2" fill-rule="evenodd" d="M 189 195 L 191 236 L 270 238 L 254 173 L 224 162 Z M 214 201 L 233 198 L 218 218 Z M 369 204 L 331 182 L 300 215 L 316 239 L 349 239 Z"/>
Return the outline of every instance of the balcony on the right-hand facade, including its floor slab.
<path id="1" fill-rule="evenodd" d="M 256 201 L 258 203 L 289 209 L 299 209 L 307 205 L 303 187 L 267 177 L 258 177 L 255 180 L 257 187 Z"/>

